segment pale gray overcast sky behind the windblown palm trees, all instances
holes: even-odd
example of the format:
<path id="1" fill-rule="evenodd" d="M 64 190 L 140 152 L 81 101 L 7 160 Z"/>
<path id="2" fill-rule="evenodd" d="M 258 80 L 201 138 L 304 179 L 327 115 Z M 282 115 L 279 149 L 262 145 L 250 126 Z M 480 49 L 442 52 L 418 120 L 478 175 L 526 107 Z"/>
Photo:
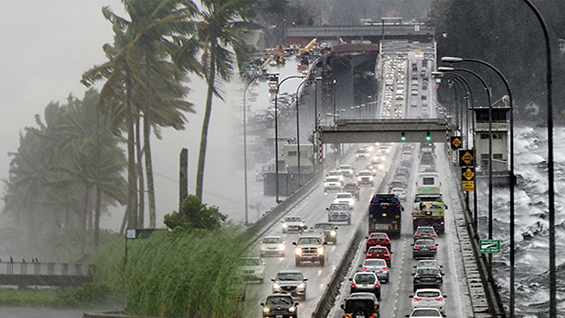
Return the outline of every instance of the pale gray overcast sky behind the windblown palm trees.
<path id="1" fill-rule="evenodd" d="M 82 73 L 106 61 L 102 45 L 112 42 L 112 30 L 101 13 L 103 6 L 124 15 L 119 0 L 0 1 L 0 178 L 8 177 L 7 153 L 17 150 L 24 127 L 35 126 L 34 116 L 43 118 L 43 109 L 51 101 L 63 104 L 69 94 L 82 99 Z M 190 124 L 186 131 L 165 130 L 163 140 L 152 144 L 160 225 L 163 215 L 178 206 L 178 154 L 183 147 L 189 148 L 189 192 L 194 193 L 205 86 L 194 76 L 192 79 L 189 100 L 196 104 L 198 115 L 187 115 Z M 236 105 L 241 99 L 241 92 L 232 95 L 226 97 L 227 105 Z M 230 131 L 233 120 L 239 120 L 233 116 L 234 109 L 215 103 L 204 201 L 237 219 L 242 211 L 242 172 L 226 173 L 235 168 L 235 160 L 227 152 L 234 146 L 233 139 L 226 137 L 234 133 Z M 106 218 L 103 224 L 116 229 L 123 209 L 112 213 L 113 218 Z"/>

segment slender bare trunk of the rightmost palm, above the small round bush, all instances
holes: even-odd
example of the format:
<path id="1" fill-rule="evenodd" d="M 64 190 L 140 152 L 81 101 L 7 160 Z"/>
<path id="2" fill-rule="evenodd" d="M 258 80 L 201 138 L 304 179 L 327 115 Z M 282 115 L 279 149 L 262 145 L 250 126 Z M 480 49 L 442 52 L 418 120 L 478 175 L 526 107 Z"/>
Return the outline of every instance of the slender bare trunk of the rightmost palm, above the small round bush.
<path id="1" fill-rule="evenodd" d="M 212 42 L 214 43 L 214 42 Z M 202 201 L 202 189 L 204 184 L 204 164 L 206 162 L 206 146 L 208 145 L 208 127 L 210 126 L 210 115 L 212 113 L 212 98 L 214 97 L 214 82 L 216 79 L 216 59 L 210 56 L 208 69 L 208 94 L 206 96 L 206 111 L 202 123 L 202 135 L 200 137 L 200 152 L 198 155 L 198 170 L 196 172 L 196 196 Z"/>

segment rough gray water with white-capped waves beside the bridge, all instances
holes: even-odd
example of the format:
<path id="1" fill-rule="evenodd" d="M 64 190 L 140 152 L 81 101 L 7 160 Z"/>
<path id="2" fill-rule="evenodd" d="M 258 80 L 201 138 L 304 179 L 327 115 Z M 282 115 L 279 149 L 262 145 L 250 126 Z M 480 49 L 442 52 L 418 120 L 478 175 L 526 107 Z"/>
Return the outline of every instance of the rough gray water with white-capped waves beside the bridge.
<path id="1" fill-rule="evenodd" d="M 515 312 L 517 317 L 547 317 L 549 311 L 549 223 L 547 129 L 521 127 L 514 131 L 515 187 Z M 559 316 L 565 317 L 565 128 L 554 129 L 555 234 Z M 479 191 L 487 202 L 486 191 Z M 509 191 L 493 191 L 493 238 L 502 240 L 493 256 L 493 275 L 503 302 L 509 304 Z M 479 206 L 479 232 L 488 235 L 488 207 Z"/>

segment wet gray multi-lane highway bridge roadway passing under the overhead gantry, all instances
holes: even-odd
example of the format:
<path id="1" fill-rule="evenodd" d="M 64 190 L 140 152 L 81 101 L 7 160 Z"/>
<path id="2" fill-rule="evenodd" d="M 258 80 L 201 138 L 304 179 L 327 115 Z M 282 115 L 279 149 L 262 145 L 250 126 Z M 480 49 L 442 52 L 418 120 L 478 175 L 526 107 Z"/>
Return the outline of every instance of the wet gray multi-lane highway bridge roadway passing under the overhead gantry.
<path id="1" fill-rule="evenodd" d="M 449 206 L 445 219 L 446 233 L 437 239 L 439 246 L 436 257 L 445 272 L 442 286 L 442 292 L 447 295 L 445 314 L 447 317 L 505 317 L 494 282 L 489 279 L 486 258 L 479 253 L 478 242 L 472 238 L 475 230 L 472 227 L 470 208 L 465 204 L 464 192 L 461 191 L 461 171 L 453 165 L 455 158 L 446 147 L 446 137 L 453 134 L 456 127 L 435 99 L 435 83 L 430 80 L 431 69 L 435 65 L 435 48 L 431 52 L 424 52 L 425 50 L 418 51 L 412 47 L 406 49 L 406 45 L 397 44 L 388 46 L 392 49 L 381 50 L 380 64 L 375 74 L 378 77 L 378 86 L 375 88 L 378 94 L 374 101 L 377 106 L 372 108 L 373 113 L 369 114 L 369 118 L 358 118 L 355 113 L 347 115 L 348 113 L 344 112 L 336 117 L 337 114 L 334 113 L 329 114 L 332 118 L 326 119 L 321 127 L 321 143 L 342 144 L 341 149 L 345 150 L 343 154 L 334 162 L 329 162 L 329 157 L 326 156 L 323 169 L 319 170 L 310 182 L 255 224 L 256 238 L 251 242 L 250 253 L 259 255 L 260 240 L 264 236 L 276 235 L 283 237 L 286 255 L 264 259 L 265 281 L 250 282 L 248 285 L 246 316 L 261 317 L 260 303 L 272 293 L 270 279 L 274 278 L 278 271 L 293 269 L 302 271 L 308 278 L 306 299 L 299 302 L 298 317 L 343 317 L 340 305 L 349 295 L 348 279 L 358 270 L 364 259 L 364 242 L 369 234 L 369 200 L 375 193 L 387 192 L 388 183 L 400 162 L 399 152 L 403 143 L 415 146 L 411 158 L 414 173 L 407 183 L 401 237 L 392 242 L 392 279 L 381 287 L 380 314 L 381 317 L 403 317 L 410 314 L 412 304 L 409 296 L 413 294 L 412 273 L 415 265 L 410 245 L 413 242 L 410 212 L 417 192 L 416 176 L 420 164 L 418 147 L 419 142 L 425 140 L 425 134 L 429 135 L 431 142 L 436 143 L 436 169 L 440 175 L 444 202 Z M 399 51 L 395 47 L 404 50 Z M 390 78 L 388 74 L 392 74 Z M 428 85 L 430 81 L 432 83 Z M 339 79 L 337 83 L 340 83 Z M 334 99 L 334 110 L 347 109 L 350 106 L 343 107 L 339 100 L 337 104 L 336 107 Z M 346 115 L 350 117 L 344 119 Z M 402 133 L 406 137 L 403 142 L 400 141 Z M 285 215 L 294 215 L 302 217 L 309 226 L 317 222 L 327 222 L 325 208 L 333 203 L 334 193 L 324 192 L 324 176 L 339 164 L 350 164 L 356 171 L 366 169 L 369 162 L 356 160 L 353 152 L 360 146 L 373 146 L 373 149 L 376 149 L 375 142 L 380 145 L 397 143 L 390 144 L 391 151 L 387 154 L 384 167 L 376 173 L 374 185 L 361 189 L 360 198 L 352 212 L 351 225 L 337 225 L 338 241 L 335 245 L 327 246 L 325 266 L 303 264 L 297 267 L 292 243 L 300 234 L 283 234 L 279 221 Z M 373 155 L 376 155 L 375 151 L 373 150 Z"/>

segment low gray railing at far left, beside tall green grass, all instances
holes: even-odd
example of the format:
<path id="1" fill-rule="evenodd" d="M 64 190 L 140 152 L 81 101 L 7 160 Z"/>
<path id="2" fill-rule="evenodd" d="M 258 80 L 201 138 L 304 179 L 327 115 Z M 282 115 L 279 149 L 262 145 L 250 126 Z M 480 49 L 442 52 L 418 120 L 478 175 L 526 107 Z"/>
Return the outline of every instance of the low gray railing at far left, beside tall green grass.
<path id="1" fill-rule="evenodd" d="M 93 276 L 96 266 L 82 263 L 0 262 L 0 275 Z"/>

